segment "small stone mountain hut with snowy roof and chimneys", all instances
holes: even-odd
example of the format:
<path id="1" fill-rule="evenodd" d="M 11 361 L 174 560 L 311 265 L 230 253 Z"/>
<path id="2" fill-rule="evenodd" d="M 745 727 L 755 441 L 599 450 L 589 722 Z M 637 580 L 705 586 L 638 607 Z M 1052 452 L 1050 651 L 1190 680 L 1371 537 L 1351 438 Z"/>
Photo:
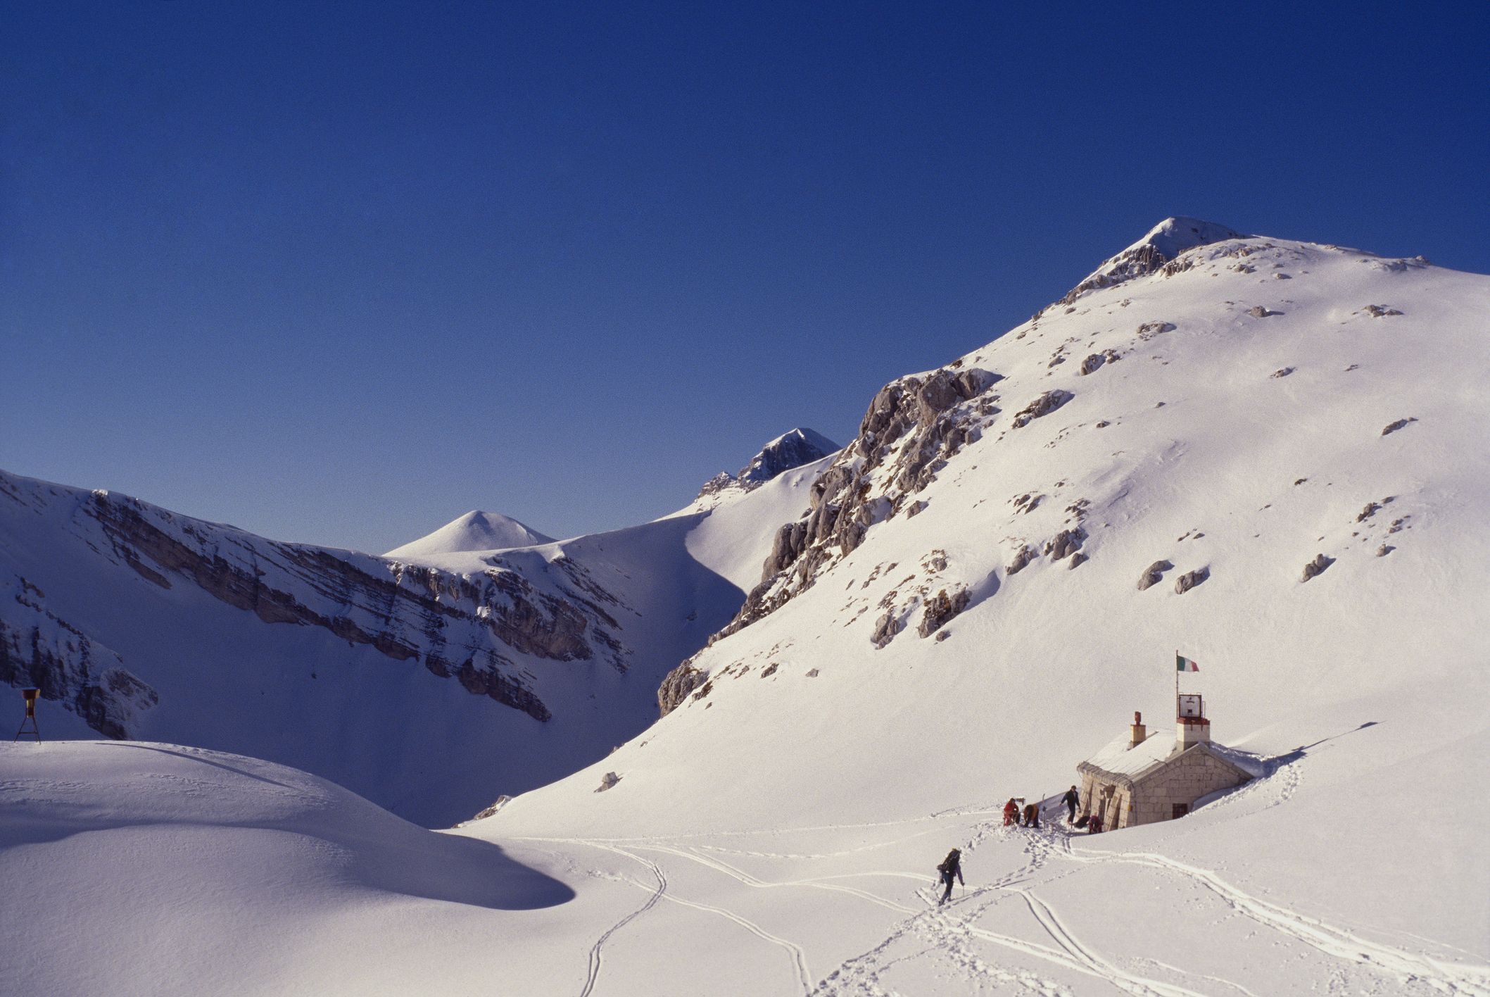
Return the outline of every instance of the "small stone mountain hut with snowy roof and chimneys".
<path id="1" fill-rule="evenodd" d="M 1176 714 L 1170 738 L 1149 735 L 1135 712 L 1128 733 L 1076 766 L 1082 812 L 1101 814 L 1104 830 L 1185 817 L 1202 796 L 1252 779 L 1226 748 L 1211 744 L 1199 696 L 1180 696 Z"/>

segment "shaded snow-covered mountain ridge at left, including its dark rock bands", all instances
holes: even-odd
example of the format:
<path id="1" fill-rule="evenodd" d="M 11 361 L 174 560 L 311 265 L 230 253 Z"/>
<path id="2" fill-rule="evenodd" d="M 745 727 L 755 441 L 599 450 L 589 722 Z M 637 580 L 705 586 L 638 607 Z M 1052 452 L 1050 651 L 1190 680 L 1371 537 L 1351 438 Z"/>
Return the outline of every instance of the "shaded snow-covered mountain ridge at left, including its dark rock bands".
<path id="1" fill-rule="evenodd" d="M 563 542 L 468 514 L 372 557 L 0 472 L 0 680 L 42 689 L 49 736 L 249 753 L 447 826 L 645 729 L 812 477 Z"/>

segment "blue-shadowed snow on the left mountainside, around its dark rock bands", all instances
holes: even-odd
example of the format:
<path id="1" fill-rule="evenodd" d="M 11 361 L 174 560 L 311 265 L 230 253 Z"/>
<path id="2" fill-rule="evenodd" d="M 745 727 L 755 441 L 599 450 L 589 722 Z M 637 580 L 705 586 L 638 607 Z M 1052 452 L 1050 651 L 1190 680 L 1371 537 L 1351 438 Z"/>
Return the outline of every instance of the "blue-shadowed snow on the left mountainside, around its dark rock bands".
<path id="1" fill-rule="evenodd" d="M 43 641 L 73 647 L 73 657 L 91 656 L 95 680 L 104 668 L 122 666 L 148 683 L 159 703 L 131 718 L 133 738 L 294 765 L 410 820 L 448 827 L 499 794 L 568 775 L 644 730 L 657 717 L 663 677 L 729 623 L 758 580 L 776 528 L 806 508 L 809 484 L 811 472 L 787 472 L 714 511 L 516 550 L 429 551 L 410 557 L 413 566 L 276 544 L 113 496 L 173 537 L 207 538 L 209 550 L 250 565 L 265 584 L 294 592 L 325 617 L 350 618 L 368 632 L 392 626 L 416 645 L 422 633 L 349 607 L 335 590 L 320 590 L 319 578 L 307 587 L 286 557 L 310 551 L 416 589 L 422 569 L 477 584 L 505 569 L 533 586 L 538 599 L 578 593 L 595 605 L 586 630 L 595 657 L 551 660 L 498 645 L 553 712 L 545 723 L 472 694 L 454 677 L 431 674 L 419 657 L 393 659 L 322 627 L 265 623 L 189 578 L 152 584 L 110 556 L 110 539 L 85 513 L 92 493 L 3 471 L 0 636 L 9 621 L 9 636 L 30 656 L 31 627 L 40 623 Z M 577 587 L 577 569 L 593 590 Z M 444 592 L 437 599 L 462 605 Z M 593 636 L 602 626 L 621 642 L 614 654 Z M 91 641 L 82 654 L 77 633 Z M 423 647 L 443 650 L 453 665 L 471 653 L 466 647 L 490 644 L 474 624 L 460 630 L 450 620 L 438 636 L 441 644 Z M 0 675 L 4 665 L 0 654 Z M 39 714 L 45 736 L 97 736 L 51 699 Z"/>

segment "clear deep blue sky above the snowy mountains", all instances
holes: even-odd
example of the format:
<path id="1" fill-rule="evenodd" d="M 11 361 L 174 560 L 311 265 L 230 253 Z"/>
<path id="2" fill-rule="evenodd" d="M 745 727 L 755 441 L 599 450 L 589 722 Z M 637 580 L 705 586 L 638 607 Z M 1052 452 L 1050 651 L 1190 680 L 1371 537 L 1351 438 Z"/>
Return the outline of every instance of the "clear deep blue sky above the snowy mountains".
<path id="1" fill-rule="evenodd" d="M 569 535 L 1168 215 L 1490 271 L 1486 4 L 1033 6 L 9 6 L 0 466 Z"/>

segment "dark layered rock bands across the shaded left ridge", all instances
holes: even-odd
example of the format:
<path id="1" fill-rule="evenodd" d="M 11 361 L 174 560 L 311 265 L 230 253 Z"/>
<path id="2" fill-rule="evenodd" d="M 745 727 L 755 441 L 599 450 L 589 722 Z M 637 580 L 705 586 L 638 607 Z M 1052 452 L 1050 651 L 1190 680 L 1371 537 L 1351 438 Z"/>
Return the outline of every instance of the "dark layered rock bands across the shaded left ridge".
<path id="1" fill-rule="evenodd" d="M 532 674 L 513 660 L 595 660 L 626 671 L 615 605 L 563 556 L 539 589 L 524 575 L 492 566 L 475 575 L 408 565 L 352 551 L 283 544 L 204 523 L 109 492 L 0 489 L 0 501 L 74 504 L 69 531 L 106 562 L 124 565 L 161 589 L 191 589 L 268 624 L 310 626 L 353 645 L 423 665 L 487 696 L 548 720 Z M 550 584 L 551 583 L 551 584 Z M 125 738 L 156 693 L 118 656 L 58 620 L 34 587 L 16 581 L 0 601 L 4 665 L 0 680 L 36 681 L 100 733 Z M 6 608 L 9 607 L 9 608 Z"/>

